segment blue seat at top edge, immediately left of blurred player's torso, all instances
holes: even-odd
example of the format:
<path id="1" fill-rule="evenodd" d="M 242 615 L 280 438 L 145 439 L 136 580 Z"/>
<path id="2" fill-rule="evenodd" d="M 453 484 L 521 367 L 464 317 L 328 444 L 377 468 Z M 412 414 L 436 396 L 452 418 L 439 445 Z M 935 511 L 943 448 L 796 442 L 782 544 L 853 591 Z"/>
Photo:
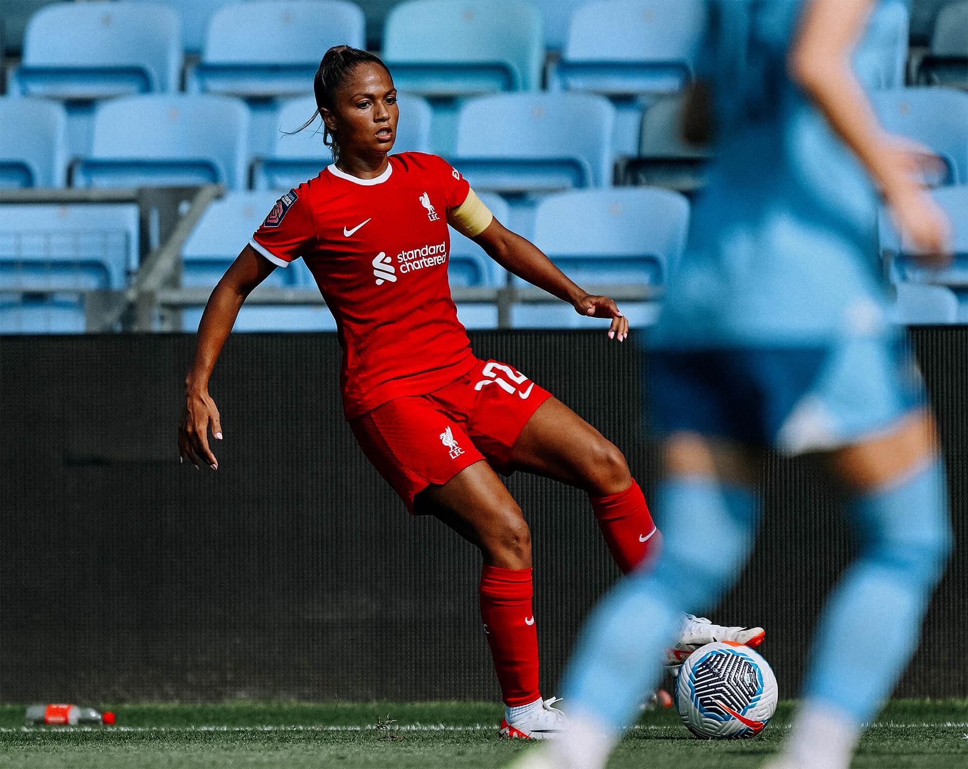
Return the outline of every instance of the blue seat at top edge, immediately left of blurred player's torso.
<path id="1" fill-rule="evenodd" d="M 692 78 L 706 29 L 702 0 L 607 0 L 571 17 L 557 77 L 568 90 L 668 94 Z"/>

